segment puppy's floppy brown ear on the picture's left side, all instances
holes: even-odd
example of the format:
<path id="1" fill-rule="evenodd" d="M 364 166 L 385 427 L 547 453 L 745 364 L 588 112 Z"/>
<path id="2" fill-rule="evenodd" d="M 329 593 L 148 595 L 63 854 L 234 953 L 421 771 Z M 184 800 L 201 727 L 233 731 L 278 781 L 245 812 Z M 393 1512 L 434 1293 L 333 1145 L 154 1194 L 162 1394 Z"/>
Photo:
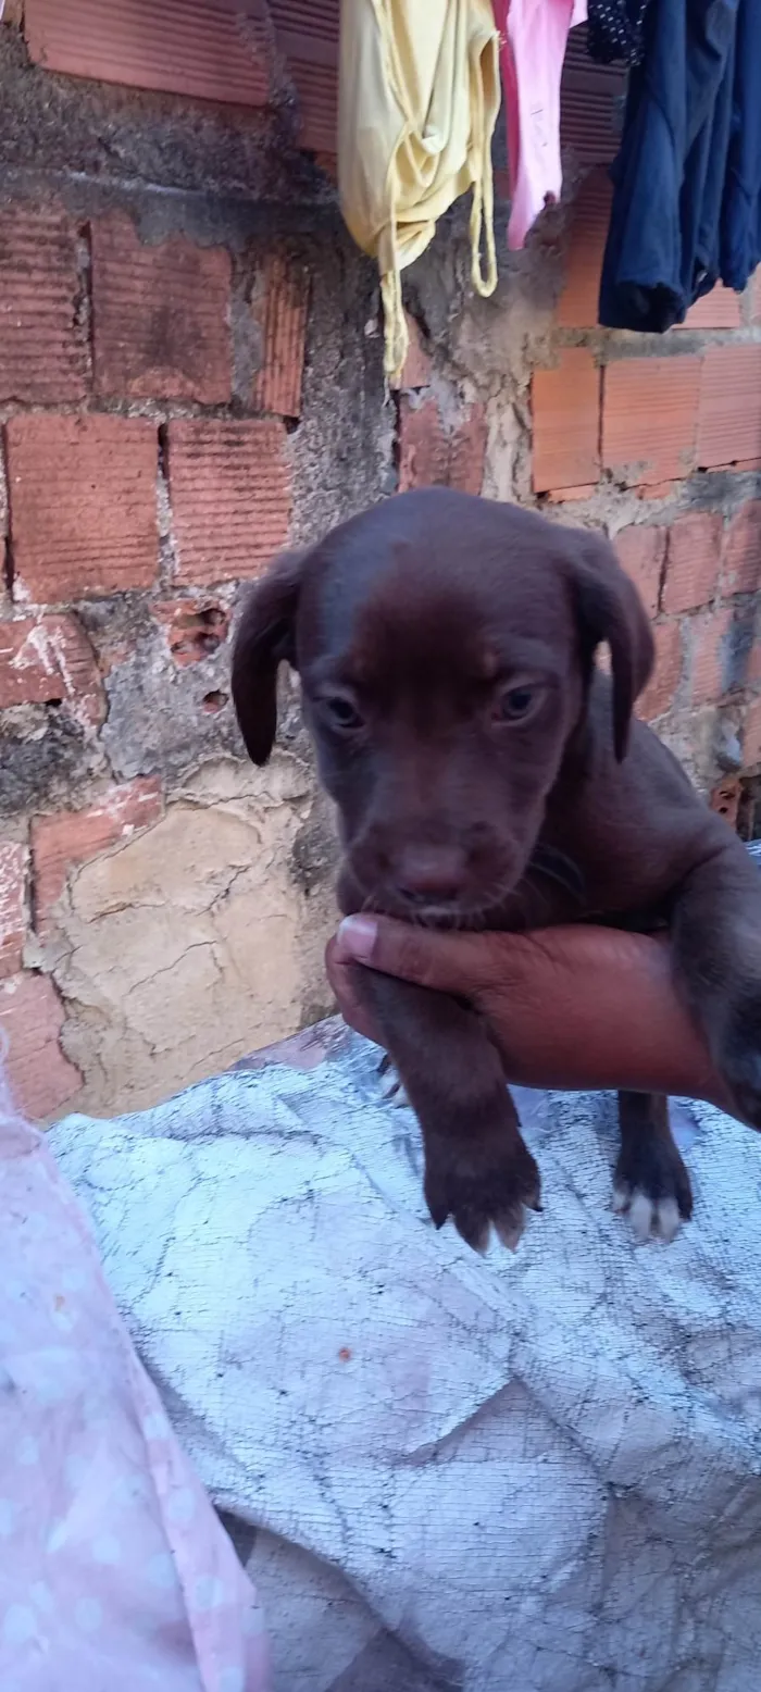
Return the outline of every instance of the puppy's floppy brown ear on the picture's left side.
<path id="1" fill-rule="evenodd" d="M 296 665 L 296 606 L 306 552 L 286 552 L 245 601 L 232 653 L 232 697 L 245 750 L 267 763 L 277 731 L 277 668 Z"/>

